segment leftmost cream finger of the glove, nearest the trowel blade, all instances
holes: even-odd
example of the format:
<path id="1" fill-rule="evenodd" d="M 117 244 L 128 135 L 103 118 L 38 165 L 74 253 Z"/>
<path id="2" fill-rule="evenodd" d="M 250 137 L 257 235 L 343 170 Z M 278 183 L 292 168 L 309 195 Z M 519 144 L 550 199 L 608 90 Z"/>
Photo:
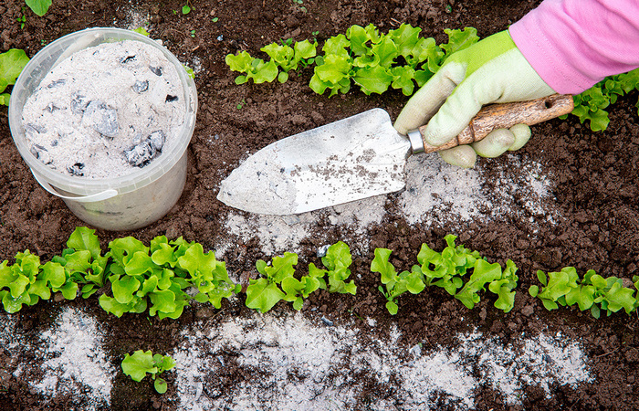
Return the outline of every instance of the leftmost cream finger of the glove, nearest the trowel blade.
<path id="1" fill-rule="evenodd" d="M 465 75 L 465 65 L 445 64 L 408 100 L 393 124 L 395 130 L 405 135 L 426 124 Z"/>

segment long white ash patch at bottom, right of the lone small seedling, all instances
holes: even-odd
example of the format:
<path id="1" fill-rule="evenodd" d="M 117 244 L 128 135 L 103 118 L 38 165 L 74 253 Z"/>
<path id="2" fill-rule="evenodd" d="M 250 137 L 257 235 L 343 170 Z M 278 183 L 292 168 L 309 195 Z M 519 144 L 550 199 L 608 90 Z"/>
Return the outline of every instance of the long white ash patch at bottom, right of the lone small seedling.
<path id="1" fill-rule="evenodd" d="M 480 332 L 456 335 L 457 344 L 413 347 L 392 327 L 387 338 L 349 324 L 328 327 L 302 313 L 253 314 L 204 327 L 194 324 L 172 354 L 181 410 L 338 410 L 357 406 L 371 380 L 391 398 L 376 398 L 373 410 L 435 410 L 475 406 L 477 385 L 490 384 L 508 405 L 520 405 L 524 389 L 592 382 L 577 342 L 557 334 L 522 334 L 503 344 Z M 225 355 L 236 358 L 246 379 L 219 383 Z M 365 378 L 361 378 L 365 375 Z M 370 398 L 369 398 L 370 399 Z M 397 408 L 397 405 L 401 405 Z"/>

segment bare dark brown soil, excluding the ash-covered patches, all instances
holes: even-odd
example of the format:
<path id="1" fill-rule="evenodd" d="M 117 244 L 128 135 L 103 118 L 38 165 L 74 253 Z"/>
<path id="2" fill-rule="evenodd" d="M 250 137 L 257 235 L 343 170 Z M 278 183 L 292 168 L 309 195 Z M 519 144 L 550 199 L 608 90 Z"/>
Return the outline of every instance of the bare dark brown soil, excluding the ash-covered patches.
<path id="1" fill-rule="evenodd" d="M 481 0 L 306 0 L 303 12 L 292 1 L 263 0 L 233 2 L 198 0 L 191 3 L 193 11 L 183 16 L 183 3 L 178 1 L 89 1 L 54 0 L 47 16 L 37 17 L 18 0 L 5 0 L 0 5 L 0 51 L 23 48 L 33 57 L 44 44 L 70 32 L 89 26 L 119 26 L 131 24 L 131 12 L 149 14 L 149 31 L 161 38 L 184 62 L 199 58 L 202 70 L 195 77 L 200 101 L 198 122 L 189 147 L 190 163 L 187 184 L 182 198 L 160 221 L 134 232 L 98 231 L 103 248 L 116 237 L 131 235 L 148 242 L 152 237 L 183 236 L 201 242 L 204 248 L 214 248 L 229 236 L 224 220 L 228 208 L 219 203 L 217 187 L 246 153 L 275 142 L 288 135 L 337 121 L 352 114 L 382 107 L 396 117 L 407 100 L 401 93 L 367 97 L 357 90 L 328 99 L 309 90 L 312 74 L 302 71 L 281 85 L 236 86 L 235 74 L 225 66 L 225 56 L 240 49 L 252 55 L 259 48 L 293 37 L 296 40 L 318 39 L 344 33 L 353 24 L 374 23 L 383 31 L 406 22 L 424 29 L 424 36 L 445 40 L 444 28 L 477 27 L 480 37 L 503 30 L 517 21 L 539 1 Z M 177 10 L 177 13 L 173 13 Z M 21 29 L 16 18 L 26 14 L 26 26 Z M 213 22 L 212 17 L 218 17 Z M 195 30 L 195 36 L 191 36 Z M 335 296 L 326 292 L 313 295 L 310 305 L 335 321 L 372 317 L 380 324 L 396 321 L 402 339 L 408 344 L 426 342 L 435 346 L 451 343 L 456 331 L 477 327 L 488 335 L 508 342 L 522 332 L 560 331 L 581 342 L 590 358 L 589 367 L 595 378 L 592 384 L 576 388 L 553 386 L 550 399 L 534 388 L 524 399 L 525 409 L 571 410 L 633 410 L 639 409 L 639 321 L 635 315 L 617 313 L 594 320 L 590 314 L 563 309 L 545 311 L 529 297 L 526 290 L 536 282 L 537 269 L 556 270 L 574 266 L 580 273 L 595 269 L 604 277 L 632 279 L 639 274 L 639 202 L 636 175 L 639 166 L 639 125 L 634 102 L 636 94 L 619 100 L 611 108 L 611 123 L 606 132 L 591 132 L 574 117 L 554 120 L 533 127 L 533 139 L 517 155 L 534 158 L 543 165 L 555 183 L 553 195 L 565 223 L 536 227 L 522 224 L 521 219 L 500 221 L 477 220 L 466 229 L 459 227 L 410 226 L 401 216 L 389 215 L 381 224 L 368 229 L 370 247 L 356 257 L 353 273 L 357 280 L 357 296 Z M 240 101 L 244 107 L 236 108 Z M 215 136 L 215 139 L 212 139 Z M 495 173 L 508 160 L 481 160 L 487 173 Z M 16 151 L 9 132 L 6 109 L 0 109 L 0 260 L 11 260 L 19 251 L 30 249 L 46 261 L 65 248 L 68 236 L 84 224 L 73 216 L 64 203 L 48 195 L 33 179 L 26 163 Z M 521 201 L 524 201 L 522 199 Z M 349 242 L 346 230 L 335 231 L 327 221 L 315 227 L 330 241 Z M 409 268 L 422 243 L 435 249 L 444 247 L 445 234 L 455 231 L 467 248 L 477 249 L 492 261 L 502 264 L 512 259 L 519 266 L 519 292 L 515 309 L 508 314 L 496 310 L 492 300 L 482 301 L 468 311 L 443 290 L 429 290 L 419 296 L 400 300 L 399 314 L 392 317 L 384 309 L 384 300 L 377 291 L 379 278 L 369 270 L 373 249 L 394 250 L 396 267 Z M 329 234 L 327 234 L 329 233 Z M 325 238 L 310 237 L 299 249 L 304 261 L 315 261 L 315 250 Z M 269 259 L 257 246 L 257 241 L 236 242 L 236 248 L 226 254 L 230 271 L 252 271 L 257 258 Z M 286 250 L 281 250 L 286 251 Z M 243 297 L 241 297 L 243 298 Z M 124 353 L 135 349 L 168 352 L 174 345 L 176 330 L 195 321 L 195 311 L 186 309 L 179 321 L 147 320 L 145 316 L 125 316 L 116 319 L 100 309 L 97 299 L 65 302 L 95 311 L 112 338 L 108 349 L 118 363 Z M 225 303 L 222 315 L 246 315 L 242 304 Z M 26 332 L 45 327 L 56 310 L 56 303 L 41 303 L 15 314 Z M 291 310 L 280 304 L 276 311 Z M 316 314 L 314 315 L 317 315 Z M 534 312 L 534 315 L 531 313 Z M 310 314 L 309 314 L 310 315 Z M 359 321 L 359 320 L 355 320 Z M 388 327 L 378 327 L 384 332 Z M 0 366 L 13 370 L 16 362 L 33 358 L 10 358 L 0 351 Z M 243 381 L 243 373 L 233 370 L 225 375 L 225 384 Z M 119 374 L 112 392 L 112 409 L 173 409 L 174 396 L 155 395 L 150 385 L 136 385 Z M 361 393 L 361 406 L 382 395 L 380 387 L 371 385 Z M 388 395 L 385 393 L 383 395 Z M 173 400 L 171 399 L 173 398 Z M 31 393 L 26 381 L 10 376 L 2 379 L 0 408 L 2 409 L 68 409 L 64 398 L 47 404 Z M 477 388 L 477 409 L 504 409 L 502 398 L 489 388 Z M 81 409 L 80 405 L 78 409 Z M 517 407 L 516 407 L 517 408 Z"/>

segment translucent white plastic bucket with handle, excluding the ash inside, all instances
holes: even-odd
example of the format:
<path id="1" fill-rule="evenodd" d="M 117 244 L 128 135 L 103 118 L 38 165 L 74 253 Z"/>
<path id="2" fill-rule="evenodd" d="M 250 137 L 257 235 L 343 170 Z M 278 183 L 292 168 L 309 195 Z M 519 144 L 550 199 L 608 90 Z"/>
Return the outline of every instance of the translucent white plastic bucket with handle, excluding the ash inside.
<path id="1" fill-rule="evenodd" d="M 143 168 L 119 177 L 88 179 L 53 170 L 32 154 L 26 142 L 22 110 L 26 100 L 51 68 L 88 47 L 121 40 L 141 41 L 161 50 L 175 66 L 183 83 L 187 112 L 177 135 L 167 136 L 162 155 Z M 195 84 L 180 61 L 148 37 L 121 28 L 88 28 L 49 44 L 27 64 L 9 100 L 9 126 L 17 150 L 37 182 L 91 226 L 107 230 L 132 230 L 162 218 L 182 195 L 186 181 L 186 148 L 191 141 L 197 111 Z"/>

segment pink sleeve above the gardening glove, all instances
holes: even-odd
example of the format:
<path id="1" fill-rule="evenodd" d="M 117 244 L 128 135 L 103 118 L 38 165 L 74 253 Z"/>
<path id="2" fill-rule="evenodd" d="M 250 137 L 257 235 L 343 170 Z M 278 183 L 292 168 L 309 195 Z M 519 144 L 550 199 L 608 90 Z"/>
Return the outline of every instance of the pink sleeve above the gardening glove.
<path id="1" fill-rule="evenodd" d="M 639 67 L 639 1 L 545 0 L 508 28 L 555 91 L 578 94 Z"/>

